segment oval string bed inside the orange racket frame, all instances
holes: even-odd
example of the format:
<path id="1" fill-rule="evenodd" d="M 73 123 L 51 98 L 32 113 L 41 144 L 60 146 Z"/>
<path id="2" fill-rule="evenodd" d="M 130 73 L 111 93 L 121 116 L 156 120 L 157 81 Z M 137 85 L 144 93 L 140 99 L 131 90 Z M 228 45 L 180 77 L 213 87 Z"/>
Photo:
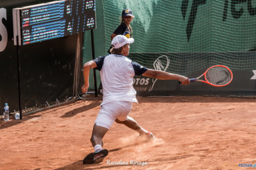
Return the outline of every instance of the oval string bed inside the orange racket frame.
<path id="1" fill-rule="evenodd" d="M 221 86 L 228 84 L 232 79 L 232 75 L 225 67 L 212 67 L 206 72 L 205 79 L 211 84 Z"/>

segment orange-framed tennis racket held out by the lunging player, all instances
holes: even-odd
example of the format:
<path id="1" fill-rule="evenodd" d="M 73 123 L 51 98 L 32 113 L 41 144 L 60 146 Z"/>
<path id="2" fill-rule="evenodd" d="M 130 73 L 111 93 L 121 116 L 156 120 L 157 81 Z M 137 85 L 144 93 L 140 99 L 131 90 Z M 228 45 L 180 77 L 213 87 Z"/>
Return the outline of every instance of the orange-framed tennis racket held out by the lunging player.
<path id="1" fill-rule="evenodd" d="M 203 76 L 205 80 L 199 80 Z M 212 86 L 222 87 L 228 85 L 232 79 L 233 73 L 227 66 L 216 65 L 208 68 L 208 70 L 206 70 L 204 74 L 200 75 L 200 77 L 190 79 L 190 82 L 201 81 Z M 179 83 L 181 84 L 180 81 Z"/>

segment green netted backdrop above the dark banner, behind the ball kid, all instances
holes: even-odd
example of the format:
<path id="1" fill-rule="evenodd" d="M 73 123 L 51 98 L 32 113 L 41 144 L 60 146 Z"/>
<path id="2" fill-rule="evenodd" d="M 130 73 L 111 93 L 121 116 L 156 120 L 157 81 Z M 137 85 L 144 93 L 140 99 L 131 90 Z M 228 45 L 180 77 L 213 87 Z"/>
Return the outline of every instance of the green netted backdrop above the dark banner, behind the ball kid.
<path id="1" fill-rule="evenodd" d="M 253 0 L 102 2 L 107 45 L 120 23 L 121 11 L 132 9 L 135 43 L 131 53 L 247 52 L 256 48 Z"/>

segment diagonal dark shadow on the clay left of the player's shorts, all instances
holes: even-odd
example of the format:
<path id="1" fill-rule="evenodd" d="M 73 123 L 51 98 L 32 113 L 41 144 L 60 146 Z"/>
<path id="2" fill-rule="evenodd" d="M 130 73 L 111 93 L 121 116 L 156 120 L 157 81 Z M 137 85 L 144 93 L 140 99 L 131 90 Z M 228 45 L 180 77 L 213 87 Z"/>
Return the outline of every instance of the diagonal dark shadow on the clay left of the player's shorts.
<path id="1" fill-rule="evenodd" d="M 65 114 L 63 116 L 60 116 L 60 117 L 72 117 L 72 116 L 75 116 L 76 114 L 79 114 L 83 111 L 86 111 L 86 110 L 90 110 L 90 109 L 93 109 L 97 106 L 99 106 L 101 103 L 101 100 L 95 100 L 94 103 L 90 103 L 89 105 L 84 105 L 80 108 L 76 108 L 76 109 L 73 109 L 73 110 L 70 110 L 68 112 L 65 112 Z"/>

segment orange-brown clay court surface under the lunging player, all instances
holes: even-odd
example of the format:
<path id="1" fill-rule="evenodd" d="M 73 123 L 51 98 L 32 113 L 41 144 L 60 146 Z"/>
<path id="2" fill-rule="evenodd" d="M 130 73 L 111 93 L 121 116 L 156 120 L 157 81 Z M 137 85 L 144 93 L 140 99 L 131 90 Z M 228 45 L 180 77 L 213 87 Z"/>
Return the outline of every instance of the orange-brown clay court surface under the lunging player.
<path id="1" fill-rule="evenodd" d="M 256 163 L 256 99 L 196 96 L 138 97 L 130 116 L 156 139 L 138 144 L 137 132 L 114 123 L 103 138 L 108 156 L 83 165 L 101 101 L 1 120 L 0 169 L 254 169 L 237 166 Z"/>

